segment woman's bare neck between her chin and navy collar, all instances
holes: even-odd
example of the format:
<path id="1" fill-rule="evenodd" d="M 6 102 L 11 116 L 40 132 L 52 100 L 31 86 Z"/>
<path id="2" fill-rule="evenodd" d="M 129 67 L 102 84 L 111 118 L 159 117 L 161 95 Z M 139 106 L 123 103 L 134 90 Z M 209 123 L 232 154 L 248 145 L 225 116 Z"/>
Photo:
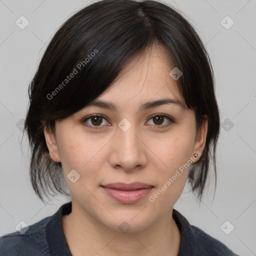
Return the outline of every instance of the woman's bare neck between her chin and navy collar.
<path id="1" fill-rule="evenodd" d="M 177 256 L 180 232 L 172 218 L 172 209 L 147 228 L 122 233 L 112 230 L 79 210 L 72 201 L 72 211 L 62 217 L 62 226 L 73 256 L 82 255 L 157 255 Z"/>

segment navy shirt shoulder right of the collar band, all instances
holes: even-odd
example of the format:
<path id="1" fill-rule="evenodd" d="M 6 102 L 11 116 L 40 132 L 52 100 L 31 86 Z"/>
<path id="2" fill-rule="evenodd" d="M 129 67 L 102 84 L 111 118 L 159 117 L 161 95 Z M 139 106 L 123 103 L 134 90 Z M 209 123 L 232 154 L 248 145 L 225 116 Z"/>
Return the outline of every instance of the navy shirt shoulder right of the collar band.
<path id="1" fill-rule="evenodd" d="M 212 256 L 238 256 L 225 244 L 205 233 L 200 228 L 190 225 L 193 242 L 197 253 L 207 253 Z"/>

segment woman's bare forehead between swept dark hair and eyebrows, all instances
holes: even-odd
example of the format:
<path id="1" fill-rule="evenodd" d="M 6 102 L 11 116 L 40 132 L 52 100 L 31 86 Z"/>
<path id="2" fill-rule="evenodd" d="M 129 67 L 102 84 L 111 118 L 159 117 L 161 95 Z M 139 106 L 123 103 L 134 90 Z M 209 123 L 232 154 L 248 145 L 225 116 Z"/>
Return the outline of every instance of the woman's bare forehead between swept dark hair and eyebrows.
<path id="1" fill-rule="evenodd" d="M 176 81 L 169 75 L 173 66 L 166 49 L 153 45 L 128 60 L 115 80 L 98 99 L 148 101 L 171 97 L 185 102 Z"/>

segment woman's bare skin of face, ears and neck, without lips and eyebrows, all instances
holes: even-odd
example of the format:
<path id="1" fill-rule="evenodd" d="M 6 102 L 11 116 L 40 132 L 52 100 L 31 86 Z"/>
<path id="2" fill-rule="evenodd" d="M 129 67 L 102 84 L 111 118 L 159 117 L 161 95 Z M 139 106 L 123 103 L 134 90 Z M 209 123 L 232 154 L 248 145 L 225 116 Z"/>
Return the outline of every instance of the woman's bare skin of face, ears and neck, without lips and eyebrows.
<path id="1" fill-rule="evenodd" d="M 197 133 L 191 109 L 163 104 L 139 110 L 140 104 L 163 97 L 178 99 L 185 105 L 176 81 L 169 75 L 173 67 L 165 56 L 164 48 L 154 45 L 127 62 L 117 79 L 97 98 L 115 104 L 117 111 L 84 107 L 56 121 L 54 132 L 44 129 L 50 157 L 62 163 L 72 195 L 72 211 L 62 217 L 62 225 L 74 256 L 178 254 L 180 232 L 172 218 L 172 206 L 184 188 L 189 168 L 154 202 L 149 196 L 194 153 L 202 152 L 207 119 Z M 105 119 L 82 122 L 91 114 L 101 114 Z M 170 116 L 174 122 L 166 117 L 157 121 L 153 114 Z M 131 124 L 126 131 L 118 127 L 123 118 Z M 97 126 L 100 128 L 94 128 Z M 72 169 L 80 174 L 74 183 L 67 178 Z M 154 188 L 132 204 L 114 200 L 100 187 L 135 181 Z M 123 221 L 130 226 L 127 233 L 118 228 Z"/>

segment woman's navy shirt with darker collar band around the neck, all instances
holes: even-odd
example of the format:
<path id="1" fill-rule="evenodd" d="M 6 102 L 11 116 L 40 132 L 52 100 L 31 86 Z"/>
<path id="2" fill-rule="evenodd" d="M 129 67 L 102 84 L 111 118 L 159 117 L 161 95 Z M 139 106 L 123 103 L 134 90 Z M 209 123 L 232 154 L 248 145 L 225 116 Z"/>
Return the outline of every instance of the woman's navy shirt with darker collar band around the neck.
<path id="1" fill-rule="evenodd" d="M 0 237 L 1 256 L 72 256 L 62 229 L 61 218 L 71 212 L 71 202 L 62 204 L 52 215 L 22 229 Z M 177 210 L 172 216 L 181 233 L 178 256 L 238 256 L 217 239 L 206 234 Z M 86 254 L 85 254 L 86 256 Z"/>

